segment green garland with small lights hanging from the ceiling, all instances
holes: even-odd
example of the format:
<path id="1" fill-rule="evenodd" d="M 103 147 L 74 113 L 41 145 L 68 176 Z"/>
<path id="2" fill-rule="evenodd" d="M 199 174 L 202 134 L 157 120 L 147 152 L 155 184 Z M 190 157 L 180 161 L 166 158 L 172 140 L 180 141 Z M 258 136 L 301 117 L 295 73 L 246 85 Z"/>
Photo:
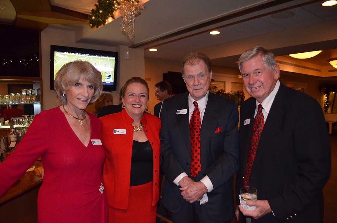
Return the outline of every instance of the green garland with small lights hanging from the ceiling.
<path id="1" fill-rule="evenodd" d="M 91 14 L 88 17 L 90 28 L 105 25 L 109 17 L 115 19 L 114 12 L 119 9 L 120 1 L 139 3 L 139 0 L 97 0 L 98 4 L 95 4 L 95 8 L 91 9 Z"/>

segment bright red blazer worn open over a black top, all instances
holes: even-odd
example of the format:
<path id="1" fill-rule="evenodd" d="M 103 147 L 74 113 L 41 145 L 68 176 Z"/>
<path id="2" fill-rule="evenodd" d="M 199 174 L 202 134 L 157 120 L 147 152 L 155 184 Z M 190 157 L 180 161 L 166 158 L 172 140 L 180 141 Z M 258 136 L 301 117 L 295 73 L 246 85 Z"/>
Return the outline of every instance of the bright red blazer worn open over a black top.
<path id="1" fill-rule="evenodd" d="M 131 155 L 133 143 L 133 119 L 123 109 L 119 113 L 103 116 L 101 121 L 102 144 L 106 152 L 103 166 L 103 182 L 108 193 L 108 203 L 116 209 L 128 209 L 130 188 Z M 154 115 L 144 113 L 141 120 L 143 131 L 153 149 L 153 194 L 152 205 L 159 198 L 159 156 L 160 156 L 160 120 Z M 119 130 L 118 130 L 119 129 Z M 126 134 L 120 130 L 126 130 Z"/>

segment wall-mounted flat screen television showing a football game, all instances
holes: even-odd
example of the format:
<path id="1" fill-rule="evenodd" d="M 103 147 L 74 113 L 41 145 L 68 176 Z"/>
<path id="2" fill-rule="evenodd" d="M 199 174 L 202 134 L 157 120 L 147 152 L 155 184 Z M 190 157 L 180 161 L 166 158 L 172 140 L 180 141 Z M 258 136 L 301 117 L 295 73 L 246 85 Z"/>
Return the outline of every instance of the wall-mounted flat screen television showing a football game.
<path id="1" fill-rule="evenodd" d="M 50 46 L 50 89 L 60 68 L 71 61 L 88 61 L 102 73 L 103 91 L 116 91 L 118 52 L 90 50 L 68 46 Z"/>

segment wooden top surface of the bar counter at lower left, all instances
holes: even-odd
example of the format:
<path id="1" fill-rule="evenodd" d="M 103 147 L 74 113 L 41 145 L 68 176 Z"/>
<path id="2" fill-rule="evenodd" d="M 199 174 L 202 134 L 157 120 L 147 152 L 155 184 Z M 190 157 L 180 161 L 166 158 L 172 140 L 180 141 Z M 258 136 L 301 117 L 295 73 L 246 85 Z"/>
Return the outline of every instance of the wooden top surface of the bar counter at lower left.
<path id="1" fill-rule="evenodd" d="M 11 151 L 8 153 L 11 153 Z M 3 159 L 0 160 L 1 162 L 3 162 Z M 0 198 L 0 205 L 42 183 L 42 161 L 35 161 L 33 166 L 35 166 L 33 170 L 26 171 Z"/>

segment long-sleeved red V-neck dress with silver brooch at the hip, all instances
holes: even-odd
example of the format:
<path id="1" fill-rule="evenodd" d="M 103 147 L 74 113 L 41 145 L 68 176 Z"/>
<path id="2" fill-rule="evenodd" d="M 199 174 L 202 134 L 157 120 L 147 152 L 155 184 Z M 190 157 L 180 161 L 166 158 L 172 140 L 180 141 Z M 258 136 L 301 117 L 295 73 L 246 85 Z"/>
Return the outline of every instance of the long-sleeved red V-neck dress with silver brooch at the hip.
<path id="1" fill-rule="evenodd" d="M 90 118 L 90 139 L 100 139 L 99 120 Z M 99 191 L 105 152 L 85 147 L 59 107 L 36 115 L 15 151 L 0 165 L 0 196 L 40 157 L 44 176 L 37 199 L 38 222 L 108 222 L 106 190 Z"/>

